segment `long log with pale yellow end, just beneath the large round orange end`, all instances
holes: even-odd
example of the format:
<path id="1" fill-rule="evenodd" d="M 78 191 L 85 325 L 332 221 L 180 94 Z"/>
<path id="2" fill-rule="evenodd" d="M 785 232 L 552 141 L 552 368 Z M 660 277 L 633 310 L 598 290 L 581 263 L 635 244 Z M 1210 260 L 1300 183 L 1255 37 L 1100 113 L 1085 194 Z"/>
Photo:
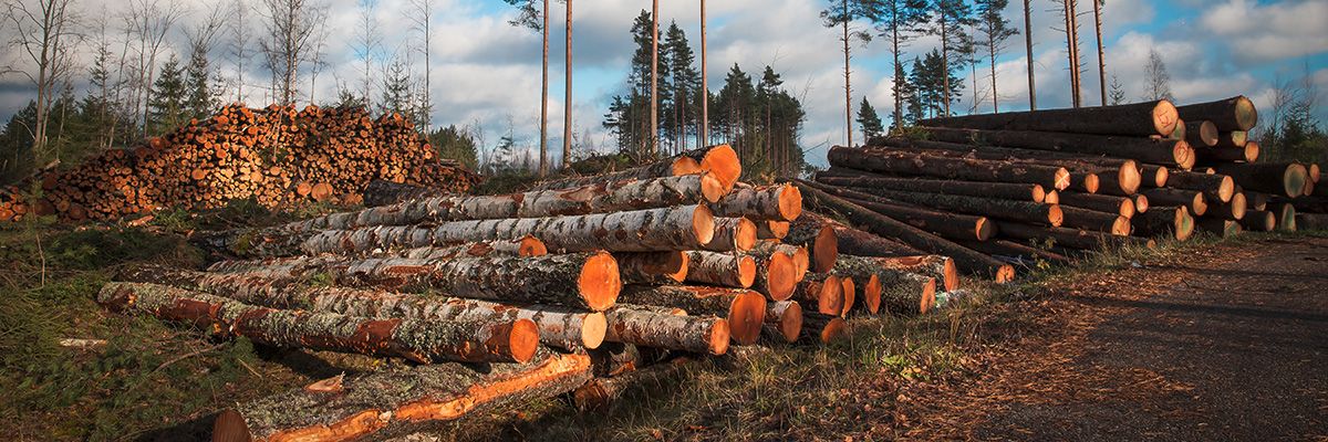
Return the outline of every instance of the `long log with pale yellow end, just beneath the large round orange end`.
<path id="1" fill-rule="evenodd" d="M 121 272 L 118 279 L 194 289 L 274 309 L 426 323 L 530 320 L 539 328 L 540 342 L 568 350 L 594 349 L 604 340 L 603 313 L 552 305 L 517 307 L 471 299 L 313 285 L 297 279 L 195 272 L 155 265 L 131 268 Z"/>

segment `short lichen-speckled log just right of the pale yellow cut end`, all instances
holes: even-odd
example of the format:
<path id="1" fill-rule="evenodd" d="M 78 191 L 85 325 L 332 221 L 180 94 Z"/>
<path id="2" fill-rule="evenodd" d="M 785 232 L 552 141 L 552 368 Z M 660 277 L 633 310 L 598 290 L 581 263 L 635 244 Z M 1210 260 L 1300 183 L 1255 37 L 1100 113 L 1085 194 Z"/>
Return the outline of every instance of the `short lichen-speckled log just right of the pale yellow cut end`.
<path id="1" fill-rule="evenodd" d="M 713 316 L 679 316 L 657 309 L 620 305 L 606 312 L 604 340 L 669 350 L 724 354 L 729 349 L 729 321 Z"/>

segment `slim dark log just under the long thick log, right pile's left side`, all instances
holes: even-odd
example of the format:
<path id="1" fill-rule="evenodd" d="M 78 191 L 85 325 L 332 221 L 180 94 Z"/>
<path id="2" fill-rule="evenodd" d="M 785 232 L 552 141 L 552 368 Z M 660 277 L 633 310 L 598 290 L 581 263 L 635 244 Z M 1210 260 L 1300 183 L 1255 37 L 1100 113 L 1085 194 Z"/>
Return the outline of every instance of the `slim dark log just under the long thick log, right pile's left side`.
<path id="1" fill-rule="evenodd" d="M 871 175 L 871 177 L 863 177 Z M 924 178 L 892 178 L 879 177 L 866 171 L 833 167 L 829 171 L 817 173 L 815 181 L 822 184 L 838 187 L 867 187 L 888 188 L 924 194 L 946 194 L 964 196 L 985 196 L 1015 200 L 1031 200 L 1041 203 L 1046 191 L 1038 184 L 1019 183 L 989 183 L 973 181 L 924 179 Z"/>

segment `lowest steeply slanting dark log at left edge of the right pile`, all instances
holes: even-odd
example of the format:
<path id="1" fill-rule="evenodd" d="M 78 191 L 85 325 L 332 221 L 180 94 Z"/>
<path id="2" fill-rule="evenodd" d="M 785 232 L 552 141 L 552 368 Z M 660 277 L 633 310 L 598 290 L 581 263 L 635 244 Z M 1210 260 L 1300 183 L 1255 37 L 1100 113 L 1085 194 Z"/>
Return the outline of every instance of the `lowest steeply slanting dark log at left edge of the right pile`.
<path id="1" fill-rule="evenodd" d="M 803 186 L 798 182 L 803 198 L 810 198 L 811 203 L 823 210 L 841 212 L 854 223 L 869 228 L 882 236 L 890 236 L 907 243 L 919 250 L 927 250 L 955 259 L 955 261 L 968 272 L 983 272 L 991 275 L 997 283 L 1007 283 L 1015 279 L 1015 268 L 1000 263 L 991 256 L 975 252 L 950 240 L 924 232 L 916 227 L 875 214 L 862 206 L 846 202 L 830 194 Z"/>

